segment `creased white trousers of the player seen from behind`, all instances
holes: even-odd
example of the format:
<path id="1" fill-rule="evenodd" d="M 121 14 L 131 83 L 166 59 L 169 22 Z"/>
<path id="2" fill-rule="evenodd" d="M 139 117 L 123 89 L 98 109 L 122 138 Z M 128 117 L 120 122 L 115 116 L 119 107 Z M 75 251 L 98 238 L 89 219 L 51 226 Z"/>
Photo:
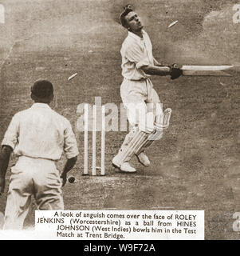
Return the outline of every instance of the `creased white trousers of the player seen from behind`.
<path id="1" fill-rule="evenodd" d="M 11 168 L 3 229 L 22 230 L 32 195 L 39 210 L 64 210 L 61 186 L 54 161 L 19 157 Z"/>

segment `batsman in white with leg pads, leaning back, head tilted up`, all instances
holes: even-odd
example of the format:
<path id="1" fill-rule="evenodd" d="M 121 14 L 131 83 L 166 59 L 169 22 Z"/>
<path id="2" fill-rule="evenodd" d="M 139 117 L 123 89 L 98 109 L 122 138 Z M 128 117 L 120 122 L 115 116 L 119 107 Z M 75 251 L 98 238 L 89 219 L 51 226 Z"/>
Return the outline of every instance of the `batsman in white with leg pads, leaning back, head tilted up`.
<path id="1" fill-rule="evenodd" d="M 130 165 L 130 159 L 135 154 L 141 164 L 150 166 L 145 150 L 154 140 L 161 138 L 171 116 L 170 109 L 163 112 L 150 77 L 170 75 L 171 79 L 175 79 L 179 78 L 183 71 L 175 65 L 163 66 L 155 60 L 150 38 L 132 6 L 126 6 L 120 14 L 120 23 L 128 30 L 128 37 L 120 50 L 124 77 L 120 95 L 132 129 L 124 139 L 118 154 L 112 159 L 112 165 L 121 171 L 134 173 L 136 169 Z M 167 120 L 167 125 L 164 125 L 164 120 Z"/>

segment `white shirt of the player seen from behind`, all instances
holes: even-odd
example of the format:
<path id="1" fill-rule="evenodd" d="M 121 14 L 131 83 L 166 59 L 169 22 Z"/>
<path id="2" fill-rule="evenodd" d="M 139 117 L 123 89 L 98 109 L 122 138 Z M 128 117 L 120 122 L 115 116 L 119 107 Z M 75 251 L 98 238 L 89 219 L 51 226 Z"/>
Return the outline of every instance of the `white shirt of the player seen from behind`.
<path id="1" fill-rule="evenodd" d="M 78 154 L 72 126 L 49 105 L 34 103 L 18 112 L 6 130 L 2 145 L 13 148 L 17 156 L 59 160 L 65 151 L 67 158 Z"/>

